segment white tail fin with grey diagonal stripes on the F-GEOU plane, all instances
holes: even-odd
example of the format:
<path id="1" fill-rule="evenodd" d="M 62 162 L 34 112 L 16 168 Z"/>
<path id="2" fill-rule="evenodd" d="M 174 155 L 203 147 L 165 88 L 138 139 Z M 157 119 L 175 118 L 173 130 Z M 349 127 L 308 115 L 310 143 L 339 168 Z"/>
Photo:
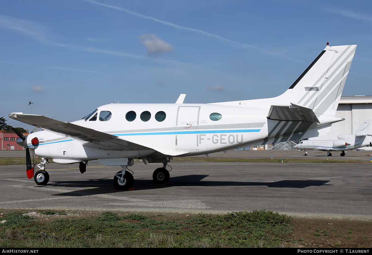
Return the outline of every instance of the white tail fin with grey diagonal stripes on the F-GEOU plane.
<path id="1" fill-rule="evenodd" d="M 353 61 L 356 45 L 328 46 L 275 101 L 310 108 L 317 116 L 334 116 Z"/>

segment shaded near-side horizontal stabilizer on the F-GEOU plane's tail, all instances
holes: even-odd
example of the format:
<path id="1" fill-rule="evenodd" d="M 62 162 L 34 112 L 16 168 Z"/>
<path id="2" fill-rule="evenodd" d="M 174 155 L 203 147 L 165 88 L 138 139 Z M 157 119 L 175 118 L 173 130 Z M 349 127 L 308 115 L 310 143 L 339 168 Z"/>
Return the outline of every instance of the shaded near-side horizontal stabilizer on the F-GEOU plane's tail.
<path id="1" fill-rule="evenodd" d="M 272 105 L 267 119 L 283 121 L 310 121 L 320 123 L 312 109 L 291 103 Z"/>

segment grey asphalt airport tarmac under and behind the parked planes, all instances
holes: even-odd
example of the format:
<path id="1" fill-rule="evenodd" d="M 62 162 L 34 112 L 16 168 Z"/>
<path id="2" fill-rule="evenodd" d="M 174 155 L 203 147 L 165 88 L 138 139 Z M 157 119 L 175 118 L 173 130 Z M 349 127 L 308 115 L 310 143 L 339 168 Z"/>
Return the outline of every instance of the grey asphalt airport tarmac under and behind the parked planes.
<path id="1" fill-rule="evenodd" d="M 230 153 L 271 156 L 267 151 Z M 209 156 L 225 155 L 219 154 Z M 300 151 L 273 156 L 285 154 L 304 157 Z M 310 152 L 306 158 L 324 154 Z M 370 161 L 367 151 L 332 158 Z M 135 162 L 129 167 L 135 179 L 129 191 L 115 190 L 112 179 L 121 170 L 116 166 L 89 162 L 87 172 L 80 174 L 77 164 L 47 164 L 50 181 L 45 186 L 29 180 L 23 165 L 0 166 L 0 207 L 180 213 L 265 209 L 298 217 L 372 220 L 372 163 L 171 162 L 169 184 L 153 185 L 153 171 L 161 166 Z"/>

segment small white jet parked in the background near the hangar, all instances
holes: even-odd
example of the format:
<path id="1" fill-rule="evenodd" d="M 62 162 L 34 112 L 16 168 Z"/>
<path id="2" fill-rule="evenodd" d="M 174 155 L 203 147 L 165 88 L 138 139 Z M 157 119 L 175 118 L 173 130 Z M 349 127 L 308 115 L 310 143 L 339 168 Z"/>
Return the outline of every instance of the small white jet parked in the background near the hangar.
<path id="1" fill-rule="evenodd" d="M 369 131 L 371 120 L 365 120 L 353 135 L 338 135 L 338 140 L 307 140 L 293 146 L 295 149 L 327 151 L 328 156 L 332 156 L 331 151 L 341 151 L 341 156 L 345 156 L 345 151 L 355 150 L 367 145 L 371 145 L 372 136 Z"/>

